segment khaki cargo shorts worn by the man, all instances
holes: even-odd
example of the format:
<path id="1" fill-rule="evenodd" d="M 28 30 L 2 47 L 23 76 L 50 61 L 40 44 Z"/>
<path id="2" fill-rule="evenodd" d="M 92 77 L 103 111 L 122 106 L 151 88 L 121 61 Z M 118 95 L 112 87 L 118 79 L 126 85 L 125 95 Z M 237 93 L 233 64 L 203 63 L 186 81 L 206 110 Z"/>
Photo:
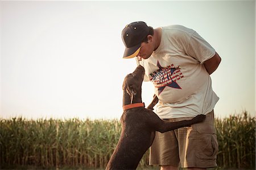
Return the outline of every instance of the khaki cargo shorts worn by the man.
<path id="1" fill-rule="evenodd" d="M 177 122 L 191 118 L 164 119 Z M 214 128 L 214 112 L 207 114 L 204 122 L 191 127 L 155 132 L 150 147 L 150 165 L 172 165 L 174 167 L 211 168 L 217 167 L 218 142 Z"/>

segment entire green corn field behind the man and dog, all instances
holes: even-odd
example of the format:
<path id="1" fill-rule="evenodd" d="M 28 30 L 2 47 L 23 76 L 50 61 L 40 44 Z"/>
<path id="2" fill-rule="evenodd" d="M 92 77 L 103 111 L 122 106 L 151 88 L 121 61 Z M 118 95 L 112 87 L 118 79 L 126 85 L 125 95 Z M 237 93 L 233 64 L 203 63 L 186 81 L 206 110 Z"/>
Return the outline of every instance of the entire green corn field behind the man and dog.
<path id="1" fill-rule="evenodd" d="M 245 112 L 215 123 L 219 168 L 255 169 L 255 118 Z M 116 119 L 0 119 L 0 168 L 104 169 L 120 132 Z M 138 169 L 148 168 L 147 151 Z"/>

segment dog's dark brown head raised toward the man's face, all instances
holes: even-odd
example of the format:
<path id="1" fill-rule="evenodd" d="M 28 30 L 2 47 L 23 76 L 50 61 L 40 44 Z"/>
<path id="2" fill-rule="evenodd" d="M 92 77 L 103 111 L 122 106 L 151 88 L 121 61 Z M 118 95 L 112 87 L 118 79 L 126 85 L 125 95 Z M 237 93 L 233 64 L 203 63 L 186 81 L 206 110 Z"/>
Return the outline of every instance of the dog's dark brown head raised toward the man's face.
<path id="1" fill-rule="evenodd" d="M 141 85 L 145 70 L 141 65 L 133 73 L 128 74 L 123 81 L 123 90 L 129 94 L 131 101 L 137 94 L 141 94 Z"/>

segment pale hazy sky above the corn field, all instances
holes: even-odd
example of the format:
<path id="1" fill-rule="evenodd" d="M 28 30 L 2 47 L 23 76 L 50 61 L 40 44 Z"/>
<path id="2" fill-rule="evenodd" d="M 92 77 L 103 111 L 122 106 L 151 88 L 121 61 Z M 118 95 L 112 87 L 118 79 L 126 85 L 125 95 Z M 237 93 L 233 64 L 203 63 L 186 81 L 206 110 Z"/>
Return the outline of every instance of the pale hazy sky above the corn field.
<path id="1" fill-rule="evenodd" d="M 181 24 L 221 56 L 216 117 L 255 114 L 255 1 L 1 1 L 1 118 L 119 119 L 121 31 Z M 154 88 L 143 82 L 148 105 Z"/>

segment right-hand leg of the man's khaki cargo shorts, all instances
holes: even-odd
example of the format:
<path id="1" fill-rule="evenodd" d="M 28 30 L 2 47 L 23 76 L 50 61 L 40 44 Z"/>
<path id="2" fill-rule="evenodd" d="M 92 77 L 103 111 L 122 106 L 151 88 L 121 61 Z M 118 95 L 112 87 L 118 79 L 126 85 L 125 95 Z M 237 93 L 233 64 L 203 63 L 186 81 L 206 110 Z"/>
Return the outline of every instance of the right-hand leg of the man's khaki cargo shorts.
<path id="1" fill-rule="evenodd" d="M 201 170 L 217 167 L 218 143 L 214 128 L 214 112 L 211 111 L 206 116 L 204 122 L 175 130 L 179 140 L 181 168 Z"/>

